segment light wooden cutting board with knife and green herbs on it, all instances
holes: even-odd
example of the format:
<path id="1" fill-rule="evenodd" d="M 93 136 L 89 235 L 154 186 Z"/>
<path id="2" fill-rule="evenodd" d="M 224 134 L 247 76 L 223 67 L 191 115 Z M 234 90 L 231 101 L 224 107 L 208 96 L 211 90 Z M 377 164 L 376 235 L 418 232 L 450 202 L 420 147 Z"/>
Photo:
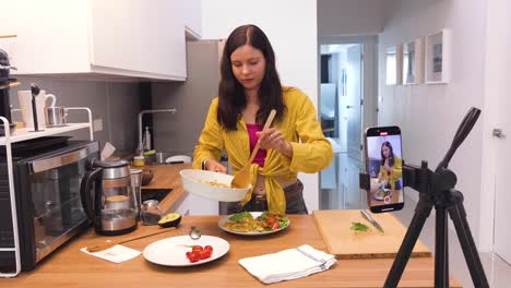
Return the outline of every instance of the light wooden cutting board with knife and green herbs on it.
<path id="1" fill-rule="evenodd" d="M 372 214 L 384 233 L 366 220 L 360 211 L 314 211 L 314 220 L 329 252 L 337 259 L 395 257 L 406 228 L 391 213 Z M 352 223 L 370 227 L 367 232 L 350 230 Z M 428 247 L 417 241 L 412 256 L 431 256 Z"/>

